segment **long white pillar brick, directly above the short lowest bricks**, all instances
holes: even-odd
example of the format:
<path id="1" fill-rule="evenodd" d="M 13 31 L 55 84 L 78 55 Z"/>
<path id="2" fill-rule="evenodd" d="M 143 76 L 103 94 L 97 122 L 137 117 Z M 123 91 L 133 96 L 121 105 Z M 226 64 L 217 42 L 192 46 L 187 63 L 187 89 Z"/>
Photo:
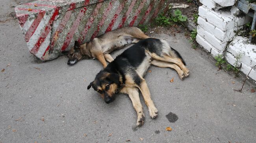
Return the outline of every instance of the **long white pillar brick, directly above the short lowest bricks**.
<path id="1" fill-rule="evenodd" d="M 213 34 L 204 30 L 200 25 L 197 26 L 197 34 L 203 37 L 207 42 L 209 42 L 213 47 L 215 47 L 219 52 L 223 52 L 226 48 L 227 42 L 221 42 Z"/>

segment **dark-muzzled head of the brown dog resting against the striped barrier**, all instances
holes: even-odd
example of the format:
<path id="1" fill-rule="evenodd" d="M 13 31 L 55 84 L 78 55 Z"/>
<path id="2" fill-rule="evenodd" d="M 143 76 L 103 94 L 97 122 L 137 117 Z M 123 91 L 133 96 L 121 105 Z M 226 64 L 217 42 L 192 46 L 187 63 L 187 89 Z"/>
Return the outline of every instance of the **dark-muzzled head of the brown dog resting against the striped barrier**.
<path id="1" fill-rule="evenodd" d="M 82 53 L 80 52 L 80 44 L 79 42 L 75 41 L 74 47 L 72 47 L 68 54 L 69 61 L 68 65 L 74 65 L 76 62 L 83 58 Z"/>

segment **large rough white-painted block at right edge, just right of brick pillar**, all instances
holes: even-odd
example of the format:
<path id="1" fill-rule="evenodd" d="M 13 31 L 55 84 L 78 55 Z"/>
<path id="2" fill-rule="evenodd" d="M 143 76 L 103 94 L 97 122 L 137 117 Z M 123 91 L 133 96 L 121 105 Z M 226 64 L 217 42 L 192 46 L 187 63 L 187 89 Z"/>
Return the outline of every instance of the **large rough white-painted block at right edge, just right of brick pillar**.
<path id="1" fill-rule="evenodd" d="M 234 56 L 241 54 L 241 62 L 249 66 L 256 65 L 256 45 L 248 42 L 248 38 L 236 36 L 234 40 L 228 45 L 227 49 Z"/>

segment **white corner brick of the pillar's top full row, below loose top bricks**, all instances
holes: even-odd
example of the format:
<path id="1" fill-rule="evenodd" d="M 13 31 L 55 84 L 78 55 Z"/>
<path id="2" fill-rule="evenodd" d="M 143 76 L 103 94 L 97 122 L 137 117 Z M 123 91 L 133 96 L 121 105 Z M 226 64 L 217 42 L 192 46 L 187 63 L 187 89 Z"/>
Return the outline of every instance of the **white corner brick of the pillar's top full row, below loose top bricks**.
<path id="1" fill-rule="evenodd" d="M 233 14 L 230 14 L 230 12 L 212 11 L 204 5 L 199 7 L 198 12 L 198 14 L 206 19 L 207 22 L 218 27 L 222 31 L 234 29 L 251 20 L 249 16 L 234 16 Z"/>

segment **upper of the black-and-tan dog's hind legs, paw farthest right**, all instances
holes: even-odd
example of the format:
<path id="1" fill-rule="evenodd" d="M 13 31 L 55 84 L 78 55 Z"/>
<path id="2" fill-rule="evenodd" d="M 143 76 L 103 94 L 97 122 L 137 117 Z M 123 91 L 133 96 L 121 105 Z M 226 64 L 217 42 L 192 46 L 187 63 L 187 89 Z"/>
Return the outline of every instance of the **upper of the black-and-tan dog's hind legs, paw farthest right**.
<path id="1" fill-rule="evenodd" d="M 187 69 L 187 67 L 185 67 L 184 63 L 179 58 L 173 58 L 167 54 L 163 55 L 163 57 L 160 57 L 155 53 L 151 53 L 150 55 L 152 56 L 152 58 L 154 58 L 156 60 L 170 62 L 170 63 L 174 63 L 174 64 L 178 65 L 180 67 L 180 69 L 182 69 L 182 71 L 184 72 L 185 76 L 189 76 L 189 69 Z"/>

